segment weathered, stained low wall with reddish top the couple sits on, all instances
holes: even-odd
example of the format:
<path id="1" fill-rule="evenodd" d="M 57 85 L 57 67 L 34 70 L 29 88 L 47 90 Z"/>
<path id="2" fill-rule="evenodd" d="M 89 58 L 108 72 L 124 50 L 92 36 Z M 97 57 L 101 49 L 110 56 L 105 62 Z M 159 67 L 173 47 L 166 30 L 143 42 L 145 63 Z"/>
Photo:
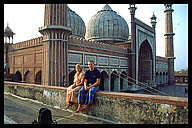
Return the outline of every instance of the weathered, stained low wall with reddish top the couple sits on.
<path id="1" fill-rule="evenodd" d="M 4 81 L 4 91 L 64 109 L 64 87 Z M 72 107 L 75 110 L 76 106 Z M 188 124 L 188 99 L 171 96 L 99 91 L 85 112 L 117 123 Z"/>

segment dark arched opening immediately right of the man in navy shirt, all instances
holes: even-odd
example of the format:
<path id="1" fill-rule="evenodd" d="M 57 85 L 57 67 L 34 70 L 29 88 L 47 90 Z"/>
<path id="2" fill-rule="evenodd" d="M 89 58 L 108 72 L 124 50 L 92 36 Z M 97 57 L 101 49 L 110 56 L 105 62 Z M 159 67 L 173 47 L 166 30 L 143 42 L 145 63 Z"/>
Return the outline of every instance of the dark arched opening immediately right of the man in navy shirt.
<path id="1" fill-rule="evenodd" d="M 99 90 L 108 90 L 109 76 L 106 71 L 101 72 L 101 82 L 99 85 Z"/>

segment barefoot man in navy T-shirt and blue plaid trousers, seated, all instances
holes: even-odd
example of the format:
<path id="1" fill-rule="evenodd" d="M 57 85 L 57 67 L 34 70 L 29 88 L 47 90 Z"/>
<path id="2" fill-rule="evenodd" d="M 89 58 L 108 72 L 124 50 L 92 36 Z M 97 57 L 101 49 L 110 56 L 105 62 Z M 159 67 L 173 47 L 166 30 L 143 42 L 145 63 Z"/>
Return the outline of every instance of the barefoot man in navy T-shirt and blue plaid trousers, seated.
<path id="1" fill-rule="evenodd" d="M 99 90 L 99 84 L 101 80 L 101 73 L 94 68 L 94 62 L 91 60 L 88 62 L 89 70 L 86 71 L 84 77 L 84 86 L 79 90 L 78 95 L 78 108 L 75 111 L 86 111 L 90 104 L 93 103 L 93 98 L 96 91 Z M 85 108 L 81 109 L 82 105 L 86 104 Z"/>

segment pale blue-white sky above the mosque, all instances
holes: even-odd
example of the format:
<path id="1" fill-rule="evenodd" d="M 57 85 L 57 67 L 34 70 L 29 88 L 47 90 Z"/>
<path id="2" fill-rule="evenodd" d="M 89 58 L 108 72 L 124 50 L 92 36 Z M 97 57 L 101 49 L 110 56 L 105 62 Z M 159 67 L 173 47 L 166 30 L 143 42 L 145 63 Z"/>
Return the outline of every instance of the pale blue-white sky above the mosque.
<path id="1" fill-rule="evenodd" d="M 13 42 L 21 42 L 42 36 L 38 29 L 44 22 L 44 4 L 4 4 L 4 29 L 7 24 L 16 33 Z M 105 4 L 68 4 L 87 25 L 88 21 Z M 109 4 L 130 25 L 129 4 Z M 135 17 L 151 26 L 153 12 L 157 17 L 156 55 L 165 56 L 165 7 L 163 4 L 136 4 Z M 173 4 L 173 32 L 175 70 L 188 68 L 188 4 Z"/>

